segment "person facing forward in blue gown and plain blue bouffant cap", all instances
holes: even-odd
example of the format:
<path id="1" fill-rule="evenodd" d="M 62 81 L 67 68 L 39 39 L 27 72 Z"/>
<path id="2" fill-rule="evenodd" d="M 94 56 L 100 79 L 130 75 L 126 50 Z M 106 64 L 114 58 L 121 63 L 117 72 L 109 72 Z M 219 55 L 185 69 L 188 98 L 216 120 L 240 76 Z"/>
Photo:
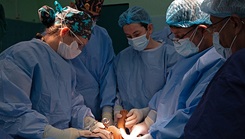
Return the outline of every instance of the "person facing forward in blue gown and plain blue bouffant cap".
<path id="1" fill-rule="evenodd" d="M 114 117 L 116 121 L 121 116 L 119 110 L 128 110 L 126 127 L 130 128 L 135 122 L 140 122 L 135 121 L 135 115 L 146 116 L 149 108 L 145 107 L 164 86 L 168 71 L 181 56 L 173 46 L 151 38 L 153 24 L 142 7 L 127 9 L 120 15 L 118 24 L 123 28 L 129 47 L 115 59 L 118 100 Z"/>

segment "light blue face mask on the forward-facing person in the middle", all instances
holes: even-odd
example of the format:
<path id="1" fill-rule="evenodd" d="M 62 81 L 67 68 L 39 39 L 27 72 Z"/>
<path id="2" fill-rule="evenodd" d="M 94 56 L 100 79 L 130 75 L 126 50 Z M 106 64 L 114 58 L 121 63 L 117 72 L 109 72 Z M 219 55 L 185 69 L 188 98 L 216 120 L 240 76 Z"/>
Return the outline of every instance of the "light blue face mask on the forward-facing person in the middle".
<path id="1" fill-rule="evenodd" d="M 128 44 L 132 46 L 137 51 L 143 51 L 149 43 L 149 40 L 146 38 L 146 34 L 130 39 L 128 38 Z"/>

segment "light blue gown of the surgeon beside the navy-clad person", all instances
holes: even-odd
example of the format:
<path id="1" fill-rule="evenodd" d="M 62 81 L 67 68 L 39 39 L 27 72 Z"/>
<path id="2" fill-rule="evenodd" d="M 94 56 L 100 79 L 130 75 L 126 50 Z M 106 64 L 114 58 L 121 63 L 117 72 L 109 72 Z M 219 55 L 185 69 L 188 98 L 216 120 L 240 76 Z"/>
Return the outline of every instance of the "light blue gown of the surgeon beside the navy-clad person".
<path id="1" fill-rule="evenodd" d="M 224 61 L 212 47 L 175 64 L 165 86 L 149 103 L 157 112 L 149 129 L 154 139 L 183 138 L 185 124 Z"/>

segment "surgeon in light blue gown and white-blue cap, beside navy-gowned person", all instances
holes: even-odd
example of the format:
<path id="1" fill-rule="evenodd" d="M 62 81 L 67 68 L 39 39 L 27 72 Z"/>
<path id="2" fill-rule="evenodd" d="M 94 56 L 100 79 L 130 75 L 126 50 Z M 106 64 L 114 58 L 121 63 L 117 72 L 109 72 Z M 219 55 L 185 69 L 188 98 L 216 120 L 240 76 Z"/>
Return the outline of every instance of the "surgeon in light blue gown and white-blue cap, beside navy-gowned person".
<path id="1" fill-rule="evenodd" d="M 212 34 L 206 30 L 209 15 L 200 9 L 202 0 L 174 0 L 168 7 L 166 22 L 175 38 L 176 51 L 184 58 L 167 76 L 165 86 L 149 103 L 144 122 L 133 127 L 124 138 L 183 138 L 184 126 L 195 110 L 209 81 L 225 59 L 212 47 Z M 205 120 L 202 119 L 202 120 Z M 147 134 L 148 133 L 148 134 Z"/>

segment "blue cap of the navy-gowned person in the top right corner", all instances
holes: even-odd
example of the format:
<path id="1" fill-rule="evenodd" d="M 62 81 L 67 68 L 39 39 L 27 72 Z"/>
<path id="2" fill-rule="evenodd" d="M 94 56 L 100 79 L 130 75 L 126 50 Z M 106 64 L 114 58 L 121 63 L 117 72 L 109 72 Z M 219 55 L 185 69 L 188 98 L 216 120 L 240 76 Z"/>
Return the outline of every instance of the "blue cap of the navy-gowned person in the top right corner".
<path id="1" fill-rule="evenodd" d="M 217 17 L 227 17 L 232 14 L 237 14 L 241 18 L 245 17 L 244 0 L 204 0 L 201 9 Z"/>

